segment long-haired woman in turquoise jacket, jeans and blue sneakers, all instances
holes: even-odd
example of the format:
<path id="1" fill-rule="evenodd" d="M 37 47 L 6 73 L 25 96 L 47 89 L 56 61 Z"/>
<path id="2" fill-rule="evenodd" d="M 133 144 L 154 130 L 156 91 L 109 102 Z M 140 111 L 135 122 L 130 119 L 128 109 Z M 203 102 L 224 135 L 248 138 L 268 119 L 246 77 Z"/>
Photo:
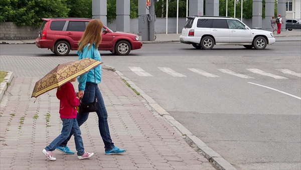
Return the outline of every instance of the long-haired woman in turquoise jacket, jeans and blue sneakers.
<path id="1" fill-rule="evenodd" d="M 103 23 L 99 19 L 93 19 L 88 23 L 86 30 L 79 41 L 79 47 L 77 49 L 79 59 L 94 58 L 101 61 L 100 53 L 98 51 L 98 45 L 101 42 L 102 38 L 102 28 Z M 120 149 L 115 146 L 111 139 L 107 120 L 107 110 L 105 108 L 101 92 L 98 88 L 98 83 L 101 82 L 101 65 L 98 65 L 94 69 L 91 69 L 89 72 L 80 75 L 78 82 L 79 93 L 81 93 L 81 96 L 83 96 L 81 100 L 82 103 L 93 102 L 95 96 L 97 97 L 98 102 L 96 113 L 98 116 L 98 128 L 104 143 L 105 154 L 124 153 L 125 149 Z M 83 112 L 80 108 L 79 113 L 77 114 L 78 125 L 82 125 L 88 119 L 88 116 L 89 112 Z M 74 152 L 71 151 L 67 146 L 67 142 L 70 137 L 71 135 L 60 146 L 58 146 L 57 149 L 66 154 L 74 154 Z"/>

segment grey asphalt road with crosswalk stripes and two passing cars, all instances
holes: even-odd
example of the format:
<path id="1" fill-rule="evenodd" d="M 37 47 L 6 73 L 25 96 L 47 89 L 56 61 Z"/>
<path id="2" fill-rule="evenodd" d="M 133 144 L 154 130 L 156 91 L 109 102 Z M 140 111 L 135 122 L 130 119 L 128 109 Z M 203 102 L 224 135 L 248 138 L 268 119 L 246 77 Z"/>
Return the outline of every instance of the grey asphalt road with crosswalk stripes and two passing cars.
<path id="1" fill-rule="evenodd" d="M 283 41 L 265 50 L 233 45 L 198 50 L 164 43 L 143 44 L 129 56 L 101 53 L 105 64 L 237 169 L 300 169 L 300 46 L 300 41 Z M 0 55 L 58 58 L 34 44 L 1 44 Z M 63 58 L 77 55 L 72 51 Z M 139 76 L 145 72 L 130 67 L 152 76 Z"/>

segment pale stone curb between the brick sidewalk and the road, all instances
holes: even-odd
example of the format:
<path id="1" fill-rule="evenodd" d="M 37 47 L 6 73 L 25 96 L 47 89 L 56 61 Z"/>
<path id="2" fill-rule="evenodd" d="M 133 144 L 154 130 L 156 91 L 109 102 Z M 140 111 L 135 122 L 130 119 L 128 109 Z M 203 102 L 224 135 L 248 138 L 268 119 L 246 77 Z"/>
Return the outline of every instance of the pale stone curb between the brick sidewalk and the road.
<path id="1" fill-rule="evenodd" d="M 106 65 L 107 67 L 111 67 Z M 115 68 L 111 67 L 111 70 L 115 70 Z M 141 90 L 138 86 L 136 86 L 130 79 L 125 77 L 120 71 L 115 72 L 124 79 L 132 88 L 140 93 L 140 95 L 148 102 L 148 105 L 157 112 L 165 121 L 175 127 L 178 132 L 182 134 L 182 136 L 186 136 L 185 141 L 197 151 L 201 151 L 201 153 L 212 162 L 212 164 L 221 170 L 236 170 L 236 168 L 226 161 L 221 155 L 215 152 L 212 148 L 207 146 L 201 139 L 197 136 L 193 135 L 191 131 L 189 131 L 184 125 L 182 125 L 179 121 L 177 121 L 173 116 L 170 115 L 164 108 L 162 108 L 152 97 L 145 94 L 143 90 Z"/>

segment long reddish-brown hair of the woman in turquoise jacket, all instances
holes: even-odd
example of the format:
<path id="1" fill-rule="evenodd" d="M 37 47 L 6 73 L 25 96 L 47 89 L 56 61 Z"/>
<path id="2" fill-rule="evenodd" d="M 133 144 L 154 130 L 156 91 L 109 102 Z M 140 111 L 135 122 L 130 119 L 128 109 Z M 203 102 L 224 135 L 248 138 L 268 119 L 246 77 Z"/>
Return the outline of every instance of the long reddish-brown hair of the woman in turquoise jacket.
<path id="1" fill-rule="evenodd" d="M 88 23 L 83 36 L 78 42 L 79 47 L 77 48 L 77 50 L 83 52 L 84 47 L 89 43 L 91 44 L 89 46 L 90 49 L 93 42 L 95 42 L 95 49 L 97 49 L 102 39 L 101 37 L 102 27 L 103 27 L 103 23 L 101 20 L 99 19 L 91 20 Z"/>

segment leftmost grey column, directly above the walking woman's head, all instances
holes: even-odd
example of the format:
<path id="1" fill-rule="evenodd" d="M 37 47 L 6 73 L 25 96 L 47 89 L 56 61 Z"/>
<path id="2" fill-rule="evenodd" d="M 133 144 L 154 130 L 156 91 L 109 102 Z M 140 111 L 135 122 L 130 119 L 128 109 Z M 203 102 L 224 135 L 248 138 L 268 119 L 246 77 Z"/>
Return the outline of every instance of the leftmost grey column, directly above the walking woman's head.
<path id="1" fill-rule="evenodd" d="M 104 25 L 107 24 L 107 0 L 92 0 L 92 18 L 100 19 Z"/>

